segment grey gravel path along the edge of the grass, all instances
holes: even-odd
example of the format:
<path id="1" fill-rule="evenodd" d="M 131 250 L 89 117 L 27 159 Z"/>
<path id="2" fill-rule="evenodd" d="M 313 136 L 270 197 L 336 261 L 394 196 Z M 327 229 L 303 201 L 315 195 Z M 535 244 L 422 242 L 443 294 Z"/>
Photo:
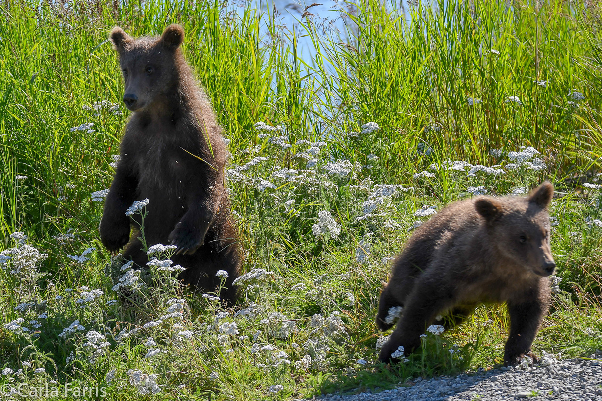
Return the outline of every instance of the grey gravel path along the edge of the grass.
<path id="1" fill-rule="evenodd" d="M 591 359 L 556 360 L 545 354 L 539 364 L 508 369 L 479 369 L 474 375 L 410 379 L 406 387 L 349 396 L 327 394 L 329 401 L 497 401 L 497 400 L 602 400 L 602 352 Z"/>

